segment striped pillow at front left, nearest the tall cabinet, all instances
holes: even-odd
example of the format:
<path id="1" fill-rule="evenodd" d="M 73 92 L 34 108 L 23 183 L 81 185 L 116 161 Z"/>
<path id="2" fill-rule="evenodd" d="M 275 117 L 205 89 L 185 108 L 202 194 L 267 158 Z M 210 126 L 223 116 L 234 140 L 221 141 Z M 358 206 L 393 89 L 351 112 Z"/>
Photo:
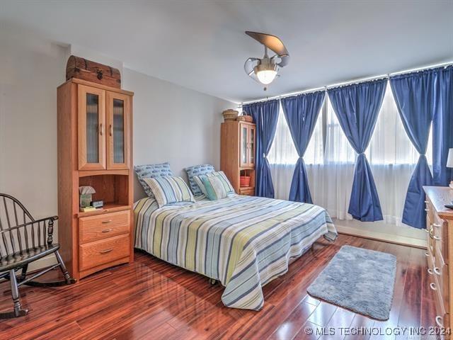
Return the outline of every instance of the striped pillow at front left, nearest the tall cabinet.
<path id="1" fill-rule="evenodd" d="M 159 208 L 179 202 L 195 202 L 192 192 L 183 179 L 176 176 L 144 179 L 156 198 Z"/>

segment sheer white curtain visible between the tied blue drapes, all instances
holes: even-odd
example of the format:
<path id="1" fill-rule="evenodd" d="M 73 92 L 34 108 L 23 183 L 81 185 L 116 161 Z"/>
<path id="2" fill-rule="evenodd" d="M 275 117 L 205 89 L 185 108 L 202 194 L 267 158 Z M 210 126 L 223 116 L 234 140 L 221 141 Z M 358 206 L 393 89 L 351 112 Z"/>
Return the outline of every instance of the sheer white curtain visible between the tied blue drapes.
<path id="1" fill-rule="evenodd" d="M 326 208 L 332 217 L 352 220 L 348 208 L 357 154 L 341 130 L 328 98 L 324 105 L 327 106 L 324 120 L 326 144 L 323 145 L 323 119 L 320 115 L 304 157 L 311 196 L 314 203 Z M 430 164 L 431 145 L 430 139 L 427 154 Z M 418 161 L 418 152 L 403 128 L 390 86 L 387 86 L 377 124 L 365 154 L 372 167 L 384 222 L 401 225 L 406 191 Z M 297 152 L 282 112 L 269 161 L 275 196 L 287 200 Z"/>

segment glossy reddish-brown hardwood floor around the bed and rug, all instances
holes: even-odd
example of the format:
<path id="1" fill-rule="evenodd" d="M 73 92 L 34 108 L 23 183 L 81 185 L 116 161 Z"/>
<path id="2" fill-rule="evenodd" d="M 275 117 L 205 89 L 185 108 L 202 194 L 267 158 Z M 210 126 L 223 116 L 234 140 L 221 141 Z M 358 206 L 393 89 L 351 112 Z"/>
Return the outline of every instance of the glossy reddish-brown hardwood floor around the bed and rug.
<path id="1" fill-rule="evenodd" d="M 374 321 L 307 295 L 306 288 L 344 244 L 397 257 L 388 321 Z M 334 244 L 317 244 L 294 261 L 288 273 L 266 285 L 263 310 L 235 310 L 222 305 L 221 286 L 137 251 L 132 265 L 93 274 L 76 285 L 20 288 L 30 312 L 1 320 L 0 339 L 420 339 L 407 333 L 344 336 L 338 328 L 335 335 L 316 336 L 316 328 L 432 327 L 434 302 L 428 285 L 423 249 L 340 235 Z M 10 309 L 8 283 L 1 283 L 0 291 L 0 310 Z M 306 327 L 314 334 L 306 334 Z"/>

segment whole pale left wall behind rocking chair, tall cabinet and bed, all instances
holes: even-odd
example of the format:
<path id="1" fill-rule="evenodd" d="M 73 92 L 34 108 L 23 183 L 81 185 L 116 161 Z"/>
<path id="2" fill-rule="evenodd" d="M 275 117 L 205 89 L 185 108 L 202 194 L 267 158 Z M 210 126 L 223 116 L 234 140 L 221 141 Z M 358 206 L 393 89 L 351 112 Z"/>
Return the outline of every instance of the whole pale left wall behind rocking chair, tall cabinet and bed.
<path id="1" fill-rule="evenodd" d="M 16 196 L 35 218 L 58 213 L 57 86 L 71 53 L 109 60 L 0 23 L 0 192 Z M 176 174 L 193 164 L 219 166 L 221 113 L 233 104 L 113 66 L 123 73 L 122 87 L 135 92 L 134 164 L 169 161 Z"/>

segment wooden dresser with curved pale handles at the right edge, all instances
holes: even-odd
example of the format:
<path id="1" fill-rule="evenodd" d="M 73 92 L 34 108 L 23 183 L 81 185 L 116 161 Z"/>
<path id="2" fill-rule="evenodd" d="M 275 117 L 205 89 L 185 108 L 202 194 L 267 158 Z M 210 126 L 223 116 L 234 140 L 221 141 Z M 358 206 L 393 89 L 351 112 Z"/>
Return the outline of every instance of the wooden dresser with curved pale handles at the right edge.
<path id="1" fill-rule="evenodd" d="M 435 323 L 453 325 L 453 210 L 445 208 L 453 200 L 453 189 L 425 186 L 426 232 L 428 239 L 429 285 L 435 294 Z"/>

